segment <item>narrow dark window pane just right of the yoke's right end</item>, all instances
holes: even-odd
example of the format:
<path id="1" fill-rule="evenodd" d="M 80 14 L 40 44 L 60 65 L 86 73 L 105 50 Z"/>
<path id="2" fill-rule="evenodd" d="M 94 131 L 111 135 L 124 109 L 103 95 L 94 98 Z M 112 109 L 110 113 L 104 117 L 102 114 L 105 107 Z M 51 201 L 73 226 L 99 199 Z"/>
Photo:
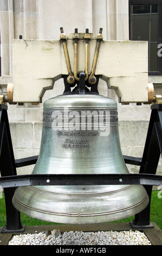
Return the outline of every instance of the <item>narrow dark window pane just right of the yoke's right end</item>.
<path id="1" fill-rule="evenodd" d="M 158 71 L 158 44 L 150 44 L 149 71 Z"/>

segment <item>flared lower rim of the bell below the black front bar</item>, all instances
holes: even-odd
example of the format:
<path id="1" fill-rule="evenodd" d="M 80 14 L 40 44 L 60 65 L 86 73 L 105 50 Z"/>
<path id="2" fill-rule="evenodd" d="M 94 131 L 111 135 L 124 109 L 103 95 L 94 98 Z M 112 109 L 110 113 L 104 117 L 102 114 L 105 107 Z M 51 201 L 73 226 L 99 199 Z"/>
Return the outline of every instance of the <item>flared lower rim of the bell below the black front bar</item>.
<path id="1" fill-rule="evenodd" d="M 114 192 L 89 192 L 89 195 L 57 193 L 57 187 L 56 192 L 38 186 L 18 187 L 12 203 L 18 211 L 30 217 L 71 224 L 122 220 L 138 214 L 148 205 L 149 199 L 142 185 L 114 187 Z"/>

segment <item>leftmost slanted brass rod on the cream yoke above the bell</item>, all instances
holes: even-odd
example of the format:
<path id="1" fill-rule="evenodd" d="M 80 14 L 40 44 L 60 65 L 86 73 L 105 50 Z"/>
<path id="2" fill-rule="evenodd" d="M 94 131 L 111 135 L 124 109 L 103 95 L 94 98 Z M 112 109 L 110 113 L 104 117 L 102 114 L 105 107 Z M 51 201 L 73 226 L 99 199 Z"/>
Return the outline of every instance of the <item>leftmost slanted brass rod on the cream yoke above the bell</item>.
<path id="1" fill-rule="evenodd" d="M 66 64 L 67 64 L 67 69 L 68 69 L 68 73 L 69 73 L 69 76 L 67 77 L 67 82 L 69 84 L 74 84 L 75 78 L 74 78 L 74 75 L 72 73 L 72 69 L 70 66 L 69 54 L 68 54 L 67 44 L 66 44 L 66 34 L 64 34 L 62 27 L 60 28 L 60 31 L 61 31 L 60 39 L 62 40 L 64 56 L 66 58 Z"/>

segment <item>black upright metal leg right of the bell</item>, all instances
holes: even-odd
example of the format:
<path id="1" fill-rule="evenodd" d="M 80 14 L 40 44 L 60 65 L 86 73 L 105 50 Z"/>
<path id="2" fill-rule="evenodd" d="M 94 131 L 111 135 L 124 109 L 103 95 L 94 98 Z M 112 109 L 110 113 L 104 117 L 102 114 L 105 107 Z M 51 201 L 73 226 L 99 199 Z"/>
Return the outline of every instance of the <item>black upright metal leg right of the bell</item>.
<path id="1" fill-rule="evenodd" d="M 151 106 L 151 117 L 148 125 L 147 137 L 144 152 L 141 159 L 139 174 L 156 174 L 160 154 L 162 156 L 162 104 Z M 150 225 L 150 206 L 152 186 L 144 185 L 150 203 L 139 214 L 135 215 L 132 227 L 149 227 Z"/>

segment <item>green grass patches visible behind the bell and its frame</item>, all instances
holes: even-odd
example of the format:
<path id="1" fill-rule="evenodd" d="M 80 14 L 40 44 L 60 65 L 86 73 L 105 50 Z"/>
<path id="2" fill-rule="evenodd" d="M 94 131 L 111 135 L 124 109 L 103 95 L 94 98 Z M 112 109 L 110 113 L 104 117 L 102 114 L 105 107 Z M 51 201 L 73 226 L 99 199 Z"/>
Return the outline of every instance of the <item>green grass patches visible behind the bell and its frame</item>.
<path id="1" fill-rule="evenodd" d="M 1 194 L 0 194 L 1 195 Z M 116 222 L 129 222 L 133 221 L 134 216 L 126 218 L 121 221 Z M 153 191 L 151 197 L 151 211 L 150 211 L 150 221 L 155 222 L 159 228 L 162 230 L 162 191 Z M 58 223 L 51 223 L 47 221 L 37 220 L 35 218 L 28 217 L 24 214 L 21 214 L 21 222 L 23 225 L 51 225 Z M 5 216 L 5 199 L 0 198 L 0 227 L 3 227 L 6 223 Z"/>

